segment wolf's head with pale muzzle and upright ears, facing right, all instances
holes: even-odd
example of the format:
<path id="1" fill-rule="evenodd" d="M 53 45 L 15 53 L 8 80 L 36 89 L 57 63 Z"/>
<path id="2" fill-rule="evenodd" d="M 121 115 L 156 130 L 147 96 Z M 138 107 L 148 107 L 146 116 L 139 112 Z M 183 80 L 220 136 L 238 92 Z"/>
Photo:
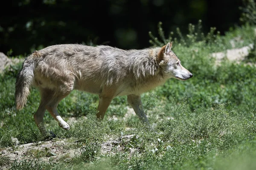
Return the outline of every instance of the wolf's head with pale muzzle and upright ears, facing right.
<path id="1" fill-rule="evenodd" d="M 180 64 L 180 59 L 178 59 L 171 48 L 172 42 L 168 42 L 168 44 L 160 49 L 157 55 L 157 62 L 163 69 L 164 76 L 183 81 L 193 77 L 193 74 Z"/>

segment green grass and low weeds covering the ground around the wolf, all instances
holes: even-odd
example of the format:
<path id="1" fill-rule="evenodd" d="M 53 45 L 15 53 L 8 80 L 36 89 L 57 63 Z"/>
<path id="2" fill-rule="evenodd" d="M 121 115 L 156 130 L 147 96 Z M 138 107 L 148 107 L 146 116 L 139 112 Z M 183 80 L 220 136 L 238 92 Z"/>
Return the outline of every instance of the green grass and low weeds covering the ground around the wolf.
<path id="1" fill-rule="evenodd" d="M 13 170 L 255 169 L 256 67 L 227 60 L 215 65 L 209 57 L 212 52 L 230 49 L 230 40 L 238 36 L 236 47 L 249 45 L 254 41 L 254 28 L 244 25 L 230 29 L 225 36 L 210 33 L 203 38 L 190 32 L 183 40 L 172 40 L 175 54 L 194 77 L 185 82 L 170 79 L 142 95 L 154 130 L 136 116 L 126 115 L 125 96 L 115 98 L 106 118 L 98 121 L 98 97 L 73 91 L 58 106 L 64 120 L 76 118 L 70 130 L 62 130 L 49 113 L 44 121 L 47 129 L 57 135 L 55 140 L 68 139 L 65 150 L 79 149 L 81 154 L 55 159 L 49 150 L 30 150 L 27 154 L 33 159 L 10 162 L 0 155 L 0 165 L 9 164 Z M 168 41 L 162 39 L 152 43 L 163 45 Z M 0 76 L 0 150 L 15 148 L 12 137 L 20 144 L 43 140 L 33 120 L 39 92 L 32 88 L 26 107 L 15 110 L 15 78 L 20 68 L 21 63 Z M 122 139 L 132 134 L 130 140 Z M 111 153 L 101 154 L 101 144 L 110 139 L 118 143 L 113 143 Z M 49 157 L 49 161 L 42 157 Z"/>

